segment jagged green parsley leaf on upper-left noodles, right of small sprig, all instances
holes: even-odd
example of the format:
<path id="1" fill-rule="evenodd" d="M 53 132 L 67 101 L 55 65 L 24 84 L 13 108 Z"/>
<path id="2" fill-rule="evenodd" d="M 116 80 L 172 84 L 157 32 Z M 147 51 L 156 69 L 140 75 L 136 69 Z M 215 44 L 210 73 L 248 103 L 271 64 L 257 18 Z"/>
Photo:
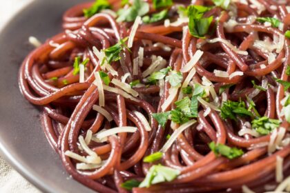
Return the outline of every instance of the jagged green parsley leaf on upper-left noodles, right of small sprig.
<path id="1" fill-rule="evenodd" d="M 124 39 L 121 39 L 118 43 L 116 43 L 115 45 L 111 46 L 110 48 L 106 48 L 105 50 L 101 50 L 102 52 L 104 52 L 106 54 L 106 61 L 108 63 L 111 63 L 112 61 L 118 61 L 119 59 L 121 59 L 121 57 L 119 56 L 119 53 L 124 50 L 124 48 L 126 48 L 127 50 L 129 50 L 129 48 L 126 45 L 126 41 L 128 40 L 128 37 L 125 37 Z M 131 52 L 131 50 L 129 50 Z M 104 63 L 104 61 L 102 61 L 102 64 Z"/>

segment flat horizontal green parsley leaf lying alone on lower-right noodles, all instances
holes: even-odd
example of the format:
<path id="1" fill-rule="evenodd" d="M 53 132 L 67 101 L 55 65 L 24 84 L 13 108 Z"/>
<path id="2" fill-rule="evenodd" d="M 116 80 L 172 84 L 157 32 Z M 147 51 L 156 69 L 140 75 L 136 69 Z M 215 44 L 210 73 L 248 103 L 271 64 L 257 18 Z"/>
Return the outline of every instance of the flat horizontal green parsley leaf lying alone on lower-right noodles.
<path id="1" fill-rule="evenodd" d="M 227 145 L 223 145 L 223 144 L 215 144 L 215 142 L 211 142 L 209 143 L 209 148 L 211 148 L 211 150 L 215 153 L 215 156 L 225 156 L 228 159 L 235 159 L 239 156 L 242 156 L 242 154 L 244 154 L 244 152 L 238 148 L 231 148 Z"/>

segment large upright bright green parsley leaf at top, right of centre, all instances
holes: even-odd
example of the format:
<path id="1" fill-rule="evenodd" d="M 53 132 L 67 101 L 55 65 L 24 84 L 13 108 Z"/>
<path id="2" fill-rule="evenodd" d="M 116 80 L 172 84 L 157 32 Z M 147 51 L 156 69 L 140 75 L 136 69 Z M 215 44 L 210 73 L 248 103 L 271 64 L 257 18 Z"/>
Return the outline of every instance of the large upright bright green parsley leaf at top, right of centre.
<path id="1" fill-rule="evenodd" d="M 193 37 L 204 38 L 204 35 L 209 31 L 213 17 L 205 17 L 204 12 L 211 8 L 204 6 L 189 6 L 187 14 L 189 16 L 189 32 Z"/>

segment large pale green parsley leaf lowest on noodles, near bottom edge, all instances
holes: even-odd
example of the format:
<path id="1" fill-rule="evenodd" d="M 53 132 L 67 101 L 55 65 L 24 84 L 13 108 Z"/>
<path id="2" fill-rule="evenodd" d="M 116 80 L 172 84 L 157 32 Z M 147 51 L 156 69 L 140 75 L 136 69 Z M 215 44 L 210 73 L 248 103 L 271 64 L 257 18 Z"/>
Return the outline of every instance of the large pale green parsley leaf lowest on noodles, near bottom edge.
<path id="1" fill-rule="evenodd" d="M 152 184 L 173 181 L 180 174 L 180 170 L 163 165 L 153 165 L 139 187 L 150 187 Z"/>

